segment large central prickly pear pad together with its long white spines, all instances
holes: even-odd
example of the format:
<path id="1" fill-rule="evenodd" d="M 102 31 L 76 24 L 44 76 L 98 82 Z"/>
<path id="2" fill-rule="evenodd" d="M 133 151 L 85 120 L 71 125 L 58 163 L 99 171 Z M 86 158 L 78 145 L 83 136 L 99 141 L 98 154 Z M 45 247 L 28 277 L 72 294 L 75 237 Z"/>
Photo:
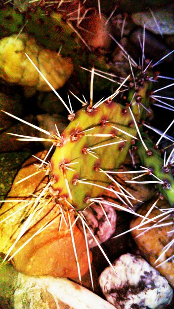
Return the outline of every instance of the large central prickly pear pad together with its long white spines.
<path id="1" fill-rule="evenodd" d="M 32 62 L 31 59 L 30 61 Z M 38 68 L 37 70 L 40 72 Z M 92 70 L 92 74 L 93 73 L 94 69 Z M 147 78 L 147 76 L 149 76 L 148 72 L 146 72 L 145 77 L 143 76 L 143 82 L 142 78 L 140 79 L 140 76 L 142 76 L 141 69 L 138 71 L 135 78 L 135 80 L 140 80 L 139 85 L 137 83 L 137 96 L 134 100 L 133 94 L 130 102 L 130 104 L 132 104 L 132 110 L 136 112 L 137 109 L 139 110 L 137 115 L 133 116 L 130 104 L 125 107 L 113 100 L 114 97 L 118 95 L 119 90 L 110 97 L 93 105 L 93 79 L 91 77 L 90 104 L 87 105 L 86 102 L 82 102 L 84 105 L 83 109 L 74 113 L 72 107 L 70 106 L 70 108 L 68 108 L 65 102 L 63 102 L 70 114 L 68 116 L 71 120 L 70 124 L 61 135 L 58 131 L 57 136 L 52 136 L 49 132 L 44 131 L 44 133 L 48 135 L 48 139 L 45 140 L 52 142 L 53 146 L 56 147 L 56 150 L 50 159 L 50 163 L 48 163 L 45 168 L 46 173 L 49 173 L 50 175 L 50 182 L 49 185 L 45 187 L 46 189 L 43 189 L 42 195 L 46 194 L 45 196 L 49 198 L 48 201 L 46 201 L 46 204 L 49 202 L 53 203 L 53 205 L 59 209 L 57 210 L 58 213 L 60 212 L 60 209 L 65 212 L 71 210 L 74 212 L 75 216 L 80 218 L 83 221 L 83 224 L 86 225 L 83 215 L 81 215 L 81 211 L 90 206 L 94 201 L 98 200 L 102 203 L 101 196 L 105 189 L 116 195 L 120 195 L 120 198 L 122 198 L 122 200 L 125 199 L 127 203 L 130 202 L 129 199 L 131 199 L 132 196 L 129 195 L 127 191 L 125 193 L 121 188 L 118 191 L 114 191 L 111 188 L 107 188 L 107 186 L 114 181 L 113 177 L 110 176 L 110 172 L 117 170 L 124 162 L 126 154 L 131 146 L 131 141 L 137 139 L 136 131 L 138 131 L 138 134 L 141 137 L 135 118 L 137 118 L 137 121 L 139 122 L 141 117 L 144 117 L 144 110 L 146 111 L 148 108 L 149 100 L 143 98 L 142 100 L 144 104 L 142 104 L 140 96 L 143 94 L 146 95 L 149 92 L 149 89 L 151 89 L 151 82 L 149 84 Z M 46 80 L 45 77 L 44 79 Z M 124 82 L 126 82 L 126 80 Z M 123 86 L 123 84 L 121 86 Z M 131 92 L 131 79 L 129 84 Z M 119 88 L 121 88 L 121 86 Z M 128 102 L 129 98 L 130 96 L 128 96 Z M 147 105 L 145 106 L 145 104 Z M 12 116 L 8 113 L 7 115 Z M 25 140 L 27 138 L 27 136 L 20 136 L 19 140 Z M 33 138 L 33 140 L 35 140 L 35 138 Z M 142 137 L 141 141 L 143 143 Z M 145 151 L 148 153 L 147 146 Z M 140 147 L 139 154 L 144 158 L 144 153 L 141 153 L 142 150 Z M 46 157 L 42 160 L 41 166 L 46 162 Z M 154 162 L 154 159 L 151 155 L 149 155 L 148 158 L 148 166 L 150 166 L 152 160 Z M 155 163 L 156 162 L 155 156 Z M 156 176 L 158 177 L 159 170 L 157 169 L 156 171 Z M 172 176 L 170 175 L 169 177 L 171 178 Z M 173 186 L 169 192 L 170 194 L 167 194 L 167 196 L 169 196 L 171 203 L 173 203 L 173 194 L 171 194 L 171 192 L 173 193 Z M 40 196 L 41 195 L 39 195 L 39 197 Z M 41 207 L 40 198 L 37 197 L 35 199 L 33 207 L 34 213 L 37 213 L 37 209 L 40 209 Z M 117 205 L 115 205 L 115 207 L 117 207 Z M 30 230 L 30 225 L 31 223 L 29 222 L 22 235 L 26 233 L 28 229 Z M 84 226 L 84 229 L 87 229 L 87 226 Z M 27 242 L 28 240 L 26 240 L 21 246 L 24 252 Z M 76 252 L 75 247 L 74 250 Z M 9 254 L 10 251 L 8 251 L 8 255 Z M 14 254 L 12 256 L 14 256 Z M 17 260 L 15 260 L 15 263 L 17 266 Z"/>

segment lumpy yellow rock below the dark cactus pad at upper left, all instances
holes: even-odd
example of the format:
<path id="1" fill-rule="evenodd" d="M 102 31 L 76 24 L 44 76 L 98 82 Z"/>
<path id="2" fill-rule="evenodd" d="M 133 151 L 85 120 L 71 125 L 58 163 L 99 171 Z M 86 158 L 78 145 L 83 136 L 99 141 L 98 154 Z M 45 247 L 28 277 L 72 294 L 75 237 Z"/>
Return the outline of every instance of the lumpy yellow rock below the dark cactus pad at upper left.
<path id="1" fill-rule="evenodd" d="M 50 87 L 26 58 L 27 53 L 55 89 L 64 85 L 73 71 L 70 58 L 44 49 L 26 34 L 0 40 L 0 77 L 10 83 L 50 91 Z"/>

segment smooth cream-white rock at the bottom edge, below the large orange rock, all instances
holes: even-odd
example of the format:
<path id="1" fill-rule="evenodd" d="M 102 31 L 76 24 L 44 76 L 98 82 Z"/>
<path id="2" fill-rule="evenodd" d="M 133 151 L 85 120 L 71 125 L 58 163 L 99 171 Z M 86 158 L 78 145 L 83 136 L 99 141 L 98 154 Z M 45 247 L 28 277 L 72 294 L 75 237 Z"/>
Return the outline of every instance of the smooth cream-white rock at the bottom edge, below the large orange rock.
<path id="1" fill-rule="evenodd" d="M 14 309 L 114 309 L 83 286 L 66 278 L 18 274 Z"/>

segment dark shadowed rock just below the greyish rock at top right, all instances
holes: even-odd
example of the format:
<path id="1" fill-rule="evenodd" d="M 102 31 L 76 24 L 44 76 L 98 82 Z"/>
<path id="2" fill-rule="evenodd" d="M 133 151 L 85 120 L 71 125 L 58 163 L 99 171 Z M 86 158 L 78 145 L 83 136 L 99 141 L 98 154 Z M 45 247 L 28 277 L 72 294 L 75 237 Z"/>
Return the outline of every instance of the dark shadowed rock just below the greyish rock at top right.
<path id="1" fill-rule="evenodd" d="M 136 29 L 130 36 L 131 41 L 137 48 L 140 48 L 139 40 L 143 42 L 143 29 Z M 135 47 L 134 46 L 134 47 Z M 145 45 L 144 52 L 150 59 L 160 60 L 164 56 L 166 56 L 171 49 L 169 49 L 166 44 L 161 39 L 157 39 L 153 34 L 149 31 L 145 31 Z M 171 63 L 174 60 L 173 54 L 169 55 L 163 60 L 163 63 Z"/>

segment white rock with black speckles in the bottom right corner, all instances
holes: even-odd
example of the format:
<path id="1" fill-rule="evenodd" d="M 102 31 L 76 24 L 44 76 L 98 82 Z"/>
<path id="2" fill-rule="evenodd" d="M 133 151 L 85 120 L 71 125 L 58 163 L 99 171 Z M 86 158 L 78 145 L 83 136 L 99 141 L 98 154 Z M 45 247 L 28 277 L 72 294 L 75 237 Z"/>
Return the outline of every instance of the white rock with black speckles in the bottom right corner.
<path id="1" fill-rule="evenodd" d="M 106 299 L 117 309 L 164 309 L 173 297 L 168 281 L 140 256 L 122 255 L 100 275 Z"/>

